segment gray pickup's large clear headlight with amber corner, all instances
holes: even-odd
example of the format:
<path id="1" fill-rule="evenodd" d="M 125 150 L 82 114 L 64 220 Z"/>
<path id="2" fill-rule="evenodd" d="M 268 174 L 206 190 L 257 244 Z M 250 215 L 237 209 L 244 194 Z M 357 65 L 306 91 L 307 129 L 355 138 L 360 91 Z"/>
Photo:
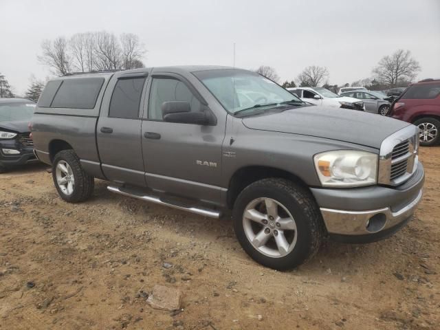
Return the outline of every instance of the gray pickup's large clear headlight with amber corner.
<path id="1" fill-rule="evenodd" d="M 328 151 L 315 155 L 314 162 L 322 186 L 369 186 L 377 181 L 378 158 L 375 153 Z"/>

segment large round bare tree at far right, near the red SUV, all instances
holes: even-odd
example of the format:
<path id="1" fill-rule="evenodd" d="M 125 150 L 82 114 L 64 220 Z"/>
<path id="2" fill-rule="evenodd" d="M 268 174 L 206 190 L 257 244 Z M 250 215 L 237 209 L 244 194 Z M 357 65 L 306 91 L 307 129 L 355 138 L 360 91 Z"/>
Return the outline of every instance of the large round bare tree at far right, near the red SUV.
<path id="1" fill-rule="evenodd" d="M 419 62 L 412 58 L 409 50 L 397 50 L 391 56 L 382 57 L 373 74 L 382 83 L 395 87 L 401 80 L 413 80 L 419 71 Z"/>

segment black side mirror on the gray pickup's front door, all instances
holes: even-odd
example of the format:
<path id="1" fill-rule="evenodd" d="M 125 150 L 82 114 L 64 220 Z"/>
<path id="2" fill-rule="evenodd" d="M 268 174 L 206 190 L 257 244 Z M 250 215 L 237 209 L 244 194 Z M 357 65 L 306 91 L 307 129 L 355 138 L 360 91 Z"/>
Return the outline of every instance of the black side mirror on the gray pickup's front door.
<path id="1" fill-rule="evenodd" d="M 162 117 L 164 118 L 164 122 L 197 124 L 202 126 L 217 124 L 209 109 L 191 112 L 191 105 L 186 101 L 169 101 L 162 103 Z"/>

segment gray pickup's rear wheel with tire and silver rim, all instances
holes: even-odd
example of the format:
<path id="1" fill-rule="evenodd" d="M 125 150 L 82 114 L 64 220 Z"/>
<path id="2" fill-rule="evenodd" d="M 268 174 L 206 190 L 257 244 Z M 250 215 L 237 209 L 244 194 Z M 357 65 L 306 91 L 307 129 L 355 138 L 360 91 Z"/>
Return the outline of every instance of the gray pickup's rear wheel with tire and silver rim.
<path id="1" fill-rule="evenodd" d="M 85 201 L 94 192 L 94 177 L 85 173 L 80 159 L 73 150 L 60 151 L 55 155 L 52 178 L 58 195 L 69 203 Z"/>

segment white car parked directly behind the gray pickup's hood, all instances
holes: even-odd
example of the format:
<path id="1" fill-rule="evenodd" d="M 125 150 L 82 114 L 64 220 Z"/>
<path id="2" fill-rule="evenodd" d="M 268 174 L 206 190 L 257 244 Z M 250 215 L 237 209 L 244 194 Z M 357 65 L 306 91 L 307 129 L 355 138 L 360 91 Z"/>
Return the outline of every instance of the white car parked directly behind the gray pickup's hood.
<path id="1" fill-rule="evenodd" d="M 294 87 L 287 88 L 287 90 L 298 96 L 301 100 L 316 105 L 365 111 L 364 102 L 361 100 L 340 96 L 324 87 Z"/>

